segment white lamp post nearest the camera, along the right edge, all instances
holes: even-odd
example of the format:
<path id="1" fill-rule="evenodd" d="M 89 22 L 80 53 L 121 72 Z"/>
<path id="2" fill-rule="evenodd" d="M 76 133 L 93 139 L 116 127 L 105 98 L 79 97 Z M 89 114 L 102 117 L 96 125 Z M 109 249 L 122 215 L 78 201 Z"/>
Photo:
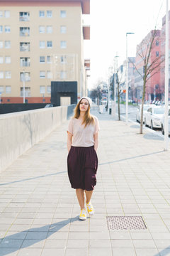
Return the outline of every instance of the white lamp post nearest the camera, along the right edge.
<path id="1" fill-rule="evenodd" d="M 166 0 L 166 41 L 165 41 L 165 115 L 164 115 L 164 150 L 168 150 L 169 137 L 169 0 Z"/>

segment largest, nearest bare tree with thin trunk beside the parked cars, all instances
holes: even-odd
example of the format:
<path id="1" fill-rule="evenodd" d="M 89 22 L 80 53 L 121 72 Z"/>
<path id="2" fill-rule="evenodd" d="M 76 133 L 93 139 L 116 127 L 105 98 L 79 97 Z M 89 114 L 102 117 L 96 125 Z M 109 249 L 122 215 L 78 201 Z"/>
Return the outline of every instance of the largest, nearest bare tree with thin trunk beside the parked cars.
<path id="1" fill-rule="evenodd" d="M 153 75 L 160 72 L 161 64 L 164 62 L 163 55 L 152 55 L 152 50 L 157 42 L 160 43 L 160 31 L 154 29 L 150 31 L 147 37 L 137 46 L 137 56 L 140 57 L 140 68 L 137 68 L 135 63 L 132 65 L 135 67 L 137 73 L 141 76 L 143 80 L 142 86 L 142 107 L 140 116 L 140 134 L 142 134 L 143 128 L 143 105 L 145 102 L 145 90 L 147 81 L 152 78 Z M 129 58 L 130 59 L 130 58 Z M 141 70 L 142 67 L 142 70 Z"/>

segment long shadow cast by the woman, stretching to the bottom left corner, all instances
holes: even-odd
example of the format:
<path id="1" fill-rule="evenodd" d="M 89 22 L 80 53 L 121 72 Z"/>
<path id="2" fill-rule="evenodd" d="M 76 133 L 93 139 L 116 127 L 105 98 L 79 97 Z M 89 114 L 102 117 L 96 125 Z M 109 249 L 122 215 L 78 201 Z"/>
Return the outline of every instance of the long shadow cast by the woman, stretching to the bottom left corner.
<path id="1" fill-rule="evenodd" d="M 13 235 L 8 235 L 5 238 L 1 238 L 0 239 L 0 251 L 1 251 L 0 255 L 1 256 L 8 255 L 9 253 L 16 252 L 21 248 L 26 248 L 31 245 L 34 245 L 36 242 L 45 240 L 49 238 L 50 235 L 52 235 L 53 233 L 56 233 L 61 228 L 63 228 L 69 223 L 73 223 L 74 221 L 82 221 L 82 220 L 79 220 L 79 216 L 77 216 L 75 218 L 62 220 L 58 223 L 54 223 L 51 225 L 45 225 L 41 228 L 30 228 L 28 230 L 24 230 Z M 23 238 L 23 235 L 25 236 L 24 238 Z"/>

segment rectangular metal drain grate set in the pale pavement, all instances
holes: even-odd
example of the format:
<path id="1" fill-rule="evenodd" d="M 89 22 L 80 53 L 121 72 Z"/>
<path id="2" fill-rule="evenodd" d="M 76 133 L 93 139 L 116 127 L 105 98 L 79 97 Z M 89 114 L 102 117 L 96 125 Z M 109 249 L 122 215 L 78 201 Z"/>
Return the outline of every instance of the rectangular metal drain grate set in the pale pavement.
<path id="1" fill-rule="evenodd" d="M 146 229 L 142 216 L 108 216 L 108 230 L 140 230 Z"/>

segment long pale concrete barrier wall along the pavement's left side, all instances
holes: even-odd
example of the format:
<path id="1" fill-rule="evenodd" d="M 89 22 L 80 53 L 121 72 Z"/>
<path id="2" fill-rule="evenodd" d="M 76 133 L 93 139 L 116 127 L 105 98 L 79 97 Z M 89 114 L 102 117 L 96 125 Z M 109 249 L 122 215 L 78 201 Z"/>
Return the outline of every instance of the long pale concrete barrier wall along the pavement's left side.
<path id="1" fill-rule="evenodd" d="M 50 107 L 1 114 L 0 171 L 6 169 L 18 156 L 66 121 L 67 109 L 70 107 Z"/>

